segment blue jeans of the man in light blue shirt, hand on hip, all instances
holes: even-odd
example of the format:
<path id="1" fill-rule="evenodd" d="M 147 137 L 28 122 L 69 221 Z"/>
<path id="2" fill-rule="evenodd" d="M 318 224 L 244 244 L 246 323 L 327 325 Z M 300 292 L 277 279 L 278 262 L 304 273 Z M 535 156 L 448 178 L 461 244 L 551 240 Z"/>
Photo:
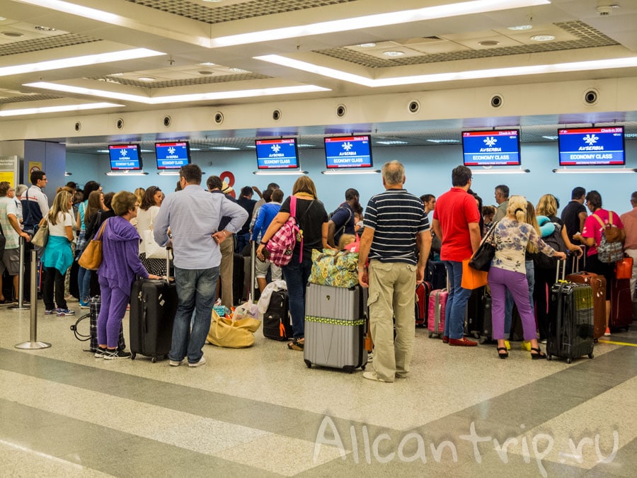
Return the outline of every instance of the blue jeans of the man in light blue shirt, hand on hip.
<path id="1" fill-rule="evenodd" d="M 188 363 L 198 362 L 206 336 L 210 331 L 212 305 L 217 295 L 219 267 L 210 269 L 175 268 L 177 285 L 177 313 L 173 323 L 173 341 L 168 358 L 179 362 L 188 355 Z M 193 327 L 190 329 L 190 319 Z"/>

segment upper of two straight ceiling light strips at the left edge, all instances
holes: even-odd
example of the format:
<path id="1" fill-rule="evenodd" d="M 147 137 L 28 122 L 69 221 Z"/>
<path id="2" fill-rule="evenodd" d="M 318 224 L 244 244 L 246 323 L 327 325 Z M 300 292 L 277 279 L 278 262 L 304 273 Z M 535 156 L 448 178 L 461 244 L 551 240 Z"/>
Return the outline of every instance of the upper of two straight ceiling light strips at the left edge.
<path id="1" fill-rule="evenodd" d="M 45 72 L 52 69 L 86 67 L 91 64 L 157 57 L 159 55 L 165 55 L 165 53 L 148 50 L 147 48 L 134 48 L 133 50 L 124 50 L 121 52 L 96 53 L 96 55 L 84 55 L 81 57 L 50 59 L 45 62 L 18 64 L 12 67 L 0 67 L 0 76 Z"/>

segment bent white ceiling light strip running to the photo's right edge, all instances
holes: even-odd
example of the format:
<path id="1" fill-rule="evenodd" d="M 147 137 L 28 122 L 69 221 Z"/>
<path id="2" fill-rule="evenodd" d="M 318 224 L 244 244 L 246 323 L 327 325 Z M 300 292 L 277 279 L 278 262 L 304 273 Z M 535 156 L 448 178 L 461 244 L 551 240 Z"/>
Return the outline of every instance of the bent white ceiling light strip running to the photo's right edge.
<path id="1" fill-rule="evenodd" d="M 340 79 L 350 83 L 377 88 L 381 86 L 398 86 L 410 84 L 435 83 L 444 81 L 462 81 L 470 79 L 488 79 L 502 76 L 524 76 L 531 74 L 550 74 L 561 72 L 584 72 L 596 69 L 614 69 L 637 67 L 637 57 L 624 57 L 612 59 L 595 59 L 586 62 L 570 62 L 556 64 L 538 64 L 527 67 L 507 67 L 493 69 L 479 69 L 466 72 L 449 72 L 437 74 L 425 74 L 416 76 L 396 76 L 394 78 L 369 79 L 342 72 L 337 69 L 321 67 L 316 64 L 301 62 L 297 59 L 282 57 L 280 55 L 263 55 L 254 57 L 264 62 L 278 64 L 284 67 L 300 69 L 305 72 L 327 76 L 331 79 Z"/>

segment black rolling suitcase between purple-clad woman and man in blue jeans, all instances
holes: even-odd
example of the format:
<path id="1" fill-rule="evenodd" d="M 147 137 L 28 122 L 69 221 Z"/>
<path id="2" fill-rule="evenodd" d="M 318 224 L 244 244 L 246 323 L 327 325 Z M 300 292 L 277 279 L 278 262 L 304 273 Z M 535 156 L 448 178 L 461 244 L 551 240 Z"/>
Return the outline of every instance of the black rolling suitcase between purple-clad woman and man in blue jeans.
<path id="1" fill-rule="evenodd" d="M 168 254 L 166 254 L 168 256 Z M 170 259 L 168 258 L 168 262 Z M 168 270 L 168 263 L 166 264 Z M 177 312 L 177 286 L 168 280 L 136 280 L 130 292 L 130 351 L 165 358 L 171 351 L 173 320 Z"/>

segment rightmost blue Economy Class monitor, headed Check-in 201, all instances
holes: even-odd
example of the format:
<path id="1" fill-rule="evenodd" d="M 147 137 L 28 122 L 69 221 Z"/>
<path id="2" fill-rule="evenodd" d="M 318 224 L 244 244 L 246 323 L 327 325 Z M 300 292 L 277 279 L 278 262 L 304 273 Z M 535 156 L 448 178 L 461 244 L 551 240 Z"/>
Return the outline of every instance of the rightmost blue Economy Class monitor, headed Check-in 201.
<path id="1" fill-rule="evenodd" d="M 558 130 L 560 166 L 626 164 L 624 127 L 583 127 Z"/>

